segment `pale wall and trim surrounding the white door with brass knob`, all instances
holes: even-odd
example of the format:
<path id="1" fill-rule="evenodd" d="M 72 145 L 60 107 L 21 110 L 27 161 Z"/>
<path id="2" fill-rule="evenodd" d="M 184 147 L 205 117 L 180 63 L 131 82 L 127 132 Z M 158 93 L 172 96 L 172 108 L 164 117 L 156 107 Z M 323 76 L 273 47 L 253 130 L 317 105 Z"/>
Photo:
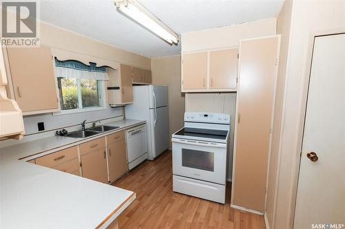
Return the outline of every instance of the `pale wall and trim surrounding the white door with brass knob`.
<path id="1" fill-rule="evenodd" d="M 272 228 L 293 228 L 299 153 L 311 63 L 311 34 L 342 28 L 345 1 L 293 1 L 286 69 L 282 138 L 279 146 L 277 205 Z M 272 229 L 271 228 L 271 229 Z"/>

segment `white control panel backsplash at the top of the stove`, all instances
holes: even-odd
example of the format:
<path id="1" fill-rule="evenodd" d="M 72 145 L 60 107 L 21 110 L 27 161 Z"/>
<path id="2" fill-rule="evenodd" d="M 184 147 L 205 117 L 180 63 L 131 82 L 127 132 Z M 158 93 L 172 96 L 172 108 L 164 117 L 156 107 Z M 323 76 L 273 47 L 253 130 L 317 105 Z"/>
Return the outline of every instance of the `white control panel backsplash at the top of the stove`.
<path id="1" fill-rule="evenodd" d="M 230 115 L 226 113 L 185 112 L 184 121 L 230 124 Z"/>

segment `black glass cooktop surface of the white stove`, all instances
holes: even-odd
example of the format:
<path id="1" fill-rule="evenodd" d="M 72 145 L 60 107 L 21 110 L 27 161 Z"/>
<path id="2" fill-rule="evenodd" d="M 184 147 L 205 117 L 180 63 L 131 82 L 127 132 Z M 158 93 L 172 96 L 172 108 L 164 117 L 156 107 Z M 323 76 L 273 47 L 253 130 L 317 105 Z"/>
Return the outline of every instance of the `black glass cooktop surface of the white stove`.
<path id="1" fill-rule="evenodd" d="M 198 129 L 198 128 L 184 127 L 183 129 L 175 133 L 175 135 L 184 136 L 184 137 L 226 140 L 226 135 L 228 135 L 228 131 L 221 131 L 217 129 Z"/>

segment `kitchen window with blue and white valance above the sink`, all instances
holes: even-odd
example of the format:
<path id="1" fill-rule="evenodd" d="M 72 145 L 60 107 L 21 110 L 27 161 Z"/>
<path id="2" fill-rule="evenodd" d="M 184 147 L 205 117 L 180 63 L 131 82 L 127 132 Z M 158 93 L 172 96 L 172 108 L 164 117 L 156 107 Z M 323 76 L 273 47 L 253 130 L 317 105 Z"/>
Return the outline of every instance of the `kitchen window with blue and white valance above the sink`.
<path id="1" fill-rule="evenodd" d="M 105 109 L 106 67 L 55 58 L 55 73 L 61 107 L 57 114 Z"/>

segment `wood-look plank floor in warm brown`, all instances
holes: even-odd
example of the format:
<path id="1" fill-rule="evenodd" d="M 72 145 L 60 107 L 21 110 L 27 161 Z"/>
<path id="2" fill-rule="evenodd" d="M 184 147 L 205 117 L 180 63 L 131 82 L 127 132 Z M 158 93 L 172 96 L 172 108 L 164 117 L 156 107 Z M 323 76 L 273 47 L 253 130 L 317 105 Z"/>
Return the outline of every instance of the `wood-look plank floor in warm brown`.
<path id="1" fill-rule="evenodd" d="M 264 217 L 226 204 L 172 192 L 171 151 L 146 161 L 112 184 L 137 193 L 137 199 L 119 216 L 119 228 L 265 228 Z"/>

